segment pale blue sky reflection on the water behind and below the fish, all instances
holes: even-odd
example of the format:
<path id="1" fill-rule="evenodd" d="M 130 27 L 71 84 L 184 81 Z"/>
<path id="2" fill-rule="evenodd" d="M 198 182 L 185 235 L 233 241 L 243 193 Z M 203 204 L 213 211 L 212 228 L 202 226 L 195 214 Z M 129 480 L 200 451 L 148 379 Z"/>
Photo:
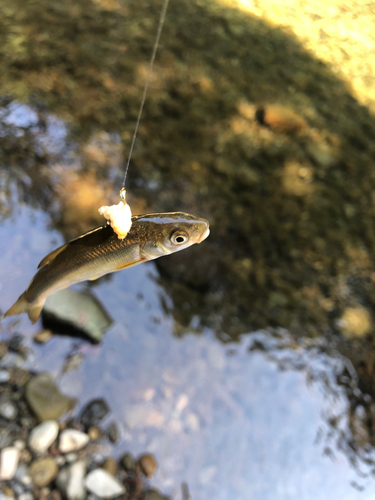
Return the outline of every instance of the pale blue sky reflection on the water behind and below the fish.
<path id="1" fill-rule="evenodd" d="M 48 217 L 24 206 L 1 225 L 4 309 L 60 242 Z M 93 397 L 107 400 L 108 420 L 121 429 L 115 453 L 154 453 L 160 467 L 153 484 L 173 498 L 181 497 L 185 481 L 194 499 L 372 499 L 373 481 L 359 476 L 334 442 L 332 453 L 324 452 L 324 415 L 328 405 L 330 411 L 344 408 L 340 391 L 334 399 L 319 382 L 308 386 L 304 372 L 281 371 L 264 354 L 249 351 L 251 336 L 235 346 L 220 344 L 210 331 L 174 337 L 155 276 L 154 265 L 146 264 L 94 288 L 114 323 L 102 344 L 81 345 L 83 365 L 61 383 L 78 399 L 76 411 Z M 17 330 L 31 344 L 39 327 L 22 317 Z M 267 341 L 265 333 L 255 336 Z M 33 345 L 32 366 L 58 376 L 76 342 L 55 337 Z M 301 355 L 309 362 L 307 353 Z"/>

